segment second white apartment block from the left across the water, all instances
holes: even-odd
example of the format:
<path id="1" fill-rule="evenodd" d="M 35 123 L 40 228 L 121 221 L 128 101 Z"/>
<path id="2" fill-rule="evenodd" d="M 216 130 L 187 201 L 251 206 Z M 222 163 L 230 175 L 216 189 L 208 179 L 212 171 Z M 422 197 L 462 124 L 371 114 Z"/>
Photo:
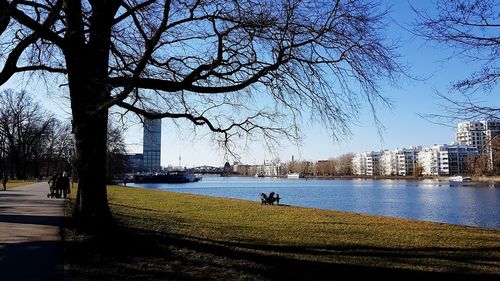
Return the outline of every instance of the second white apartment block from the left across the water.
<path id="1" fill-rule="evenodd" d="M 380 157 L 381 174 L 385 176 L 411 176 L 421 146 L 384 151 Z"/>

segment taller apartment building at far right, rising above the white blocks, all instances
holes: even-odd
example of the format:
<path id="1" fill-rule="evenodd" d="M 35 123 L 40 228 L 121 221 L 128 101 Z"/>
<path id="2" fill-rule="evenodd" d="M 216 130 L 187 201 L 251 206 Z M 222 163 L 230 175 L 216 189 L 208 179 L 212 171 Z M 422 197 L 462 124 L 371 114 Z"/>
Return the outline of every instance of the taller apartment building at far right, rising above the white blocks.
<path id="1" fill-rule="evenodd" d="M 488 156 L 488 168 L 493 168 L 493 148 L 491 140 L 500 135 L 500 120 L 480 120 L 458 123 L 456 142 L 461 145 L 476 146 Z"/>

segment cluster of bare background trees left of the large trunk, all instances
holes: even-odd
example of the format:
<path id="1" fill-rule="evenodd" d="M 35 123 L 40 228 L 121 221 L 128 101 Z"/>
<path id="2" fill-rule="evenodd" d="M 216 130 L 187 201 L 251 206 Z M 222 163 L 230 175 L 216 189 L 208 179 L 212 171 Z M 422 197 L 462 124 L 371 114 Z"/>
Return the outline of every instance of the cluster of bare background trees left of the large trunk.
<path id="1" fill-rule="evenodd" d="M 42 178 L 70 172 L 71 124 L 57 119 L 26 91 L 0 95 L 0 169 L 10 178 Z"/>

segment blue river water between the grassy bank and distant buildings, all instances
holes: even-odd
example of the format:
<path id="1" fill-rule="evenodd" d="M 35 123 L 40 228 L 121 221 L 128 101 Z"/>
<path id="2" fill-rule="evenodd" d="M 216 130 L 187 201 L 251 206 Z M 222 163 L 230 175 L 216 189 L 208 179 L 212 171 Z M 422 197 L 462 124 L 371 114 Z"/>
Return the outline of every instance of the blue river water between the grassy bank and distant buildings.
<path id="1" fill-rule="evenodd" d="M 500 229 L 500 184 L 437 180 L 303 180 L 204 177 L 187 184 L 129 184 L 253 200 L 274 191 L 280 203 Z"/>

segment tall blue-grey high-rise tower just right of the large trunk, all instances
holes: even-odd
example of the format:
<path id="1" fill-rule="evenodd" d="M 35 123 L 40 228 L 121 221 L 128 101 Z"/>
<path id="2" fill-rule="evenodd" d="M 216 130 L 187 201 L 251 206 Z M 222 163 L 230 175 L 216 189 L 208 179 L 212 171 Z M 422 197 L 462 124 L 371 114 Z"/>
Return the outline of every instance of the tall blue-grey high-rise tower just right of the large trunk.
<path id="1" fill-rule="evenodd" d="M 145 172 L 161 170 L 161 119 L 144 119 L 143 163 Z"/>

